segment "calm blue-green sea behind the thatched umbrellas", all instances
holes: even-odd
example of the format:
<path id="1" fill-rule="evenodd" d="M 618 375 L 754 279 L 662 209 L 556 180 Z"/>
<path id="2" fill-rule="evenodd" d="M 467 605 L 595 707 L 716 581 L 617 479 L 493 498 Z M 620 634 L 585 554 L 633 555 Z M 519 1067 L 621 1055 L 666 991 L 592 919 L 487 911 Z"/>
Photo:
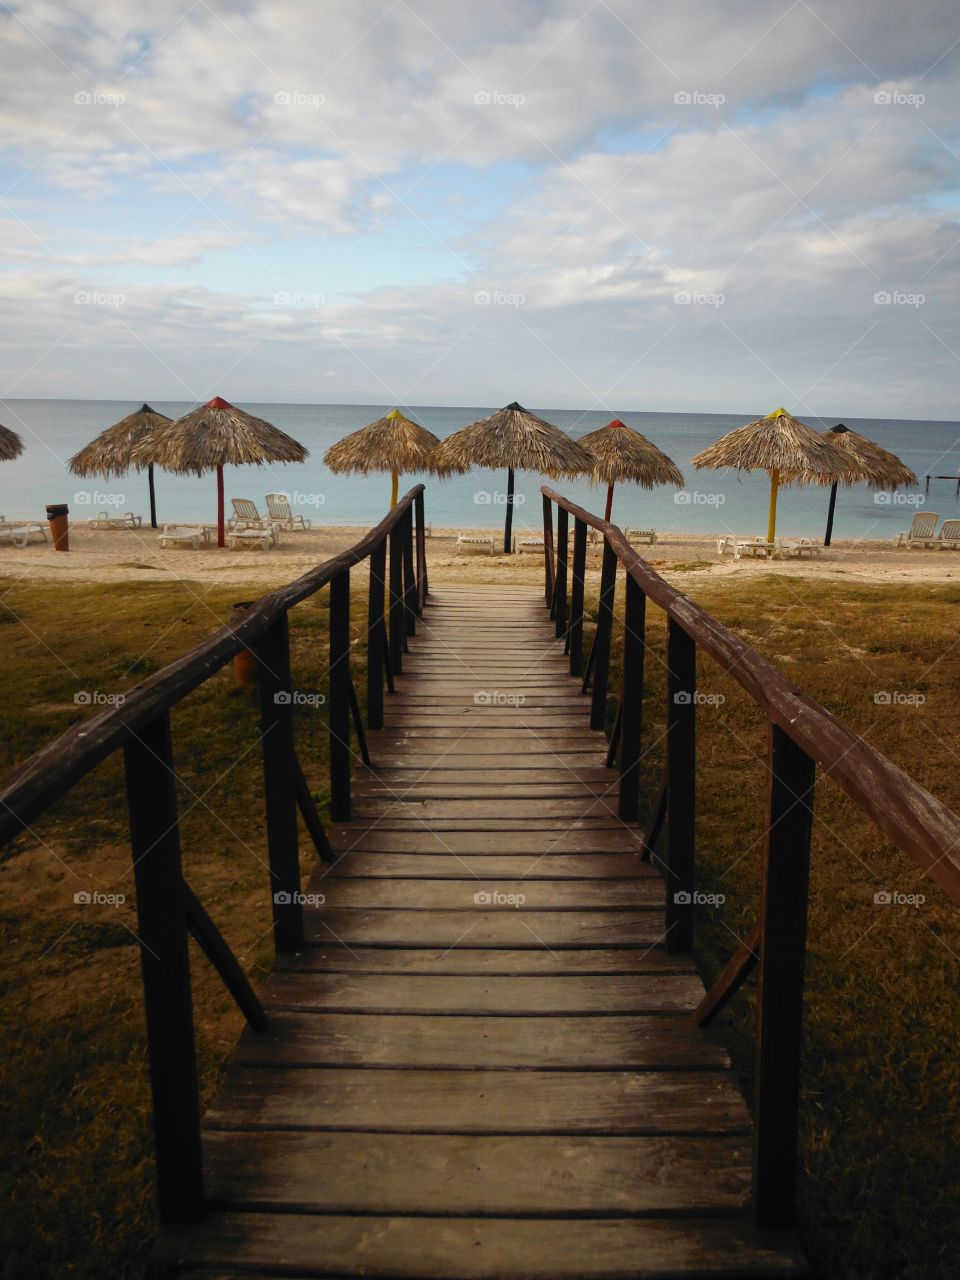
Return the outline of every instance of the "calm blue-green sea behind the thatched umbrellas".
<path id="1" fill-rule="evenodd" d="M 177 401 L 151 401 L 155 408 L 178 417 L 193 406 Z M 93 506 L 147 515 L 146 476 L 131 474 L 119 481 L 79 480 L 67 468 L 69 457 L 104 428 L 138 406 L 127 401 L 12 399 L 0 402 L 0 422 L 18 431 L 24 452 L 15 462 L 0 465 L 0 512 L 9 518 L 38 518 L 46 503 L 67 502 L 72 518 L 84 518 Z M 323 465 L 326 448 L 357 428 L 380 417 L 389 404 L 243 404 L 301 440 L 310 457 L 303 465 L 227 467 L 229 499 L 285 492 L 294 509 L 315 522 L 370 525 L 381 518 L 389 502 L 389 475 L 335 476 Z M 530 406 L 573 436 L 585 435 L 609 421 L 604 412 L 577 412 Z M 410 406 L 412 417 L 444 436 L 493 412 L 493 407 L 438 408 Z M 627 425 L 643 431 L 668 453 L 684 472 L 686 489 L 640 489 L 618 485 L 613 518 L 620 525 L 654 525 L 662 535 L 675 532 L 760 534 L 767 527 L 769 481 L 763 474 L 739 476 L 733 471 L 698 471 L 690 458 L 717 436 L 759 416 L 754 408 L 731 413 L 631 413 Z M 818 430 L 838 419 L 806 419 Z M 874 495 L 865 486 L 841 489 L 837 498 L 835 538 L 892 538 L 906 529 L 924 504 L 923 477 L 952 475 L 960 467 L 960 424 L 844 417 L 844 422 L 897 453 L 920 477 L 920 488 L 893 495 Z M 401 493 L 419 480 L 428 485 L 428 520 L 435 526 L 489 529 L 502 526 L 506 472 L 476 470 L 439 481 L 430 476 L 403 476 Z M 544 477 L 517 474 L 515 529 L 536 529 L 541 520 L 539 488 Z M 549 481 L 589 511 L 603 513 L 605 490 L 585 481 Z M 160 521 L 212 521 L 216 485 L 202 477 L 156 474 Z M 942 517 L 960 516 L 956 485 L 931 483 L 927 509 Z M 878 500 L 879 498 L 879 500 Z M 777 529 L 797 536 L 822 536 L 828 490 L 785 488 L 780 493 Z"/>

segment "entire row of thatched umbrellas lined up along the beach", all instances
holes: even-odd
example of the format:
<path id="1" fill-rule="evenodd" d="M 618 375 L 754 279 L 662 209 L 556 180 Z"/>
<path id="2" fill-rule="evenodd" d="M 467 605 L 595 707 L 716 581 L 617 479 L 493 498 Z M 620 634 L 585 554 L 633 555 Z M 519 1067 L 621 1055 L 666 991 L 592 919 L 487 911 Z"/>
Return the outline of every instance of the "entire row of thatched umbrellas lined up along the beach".
<path id="1" fill-rule="evenodd" d="M 0 428 L 0 460 L 17 457 L 23 444 L 14 431 Z M 239 410 L 221 397 L 172 421 L 148 404 L 108 428 L 70 458 L 77 475 L 123 475 L 131 466 L 147 468 L 151 524 L 156 527 L 154 466 L 178 474 L 216 471 L 218 545 L 225 540 L 224 466 L 269 462 L 303 462 L 306 448 L 292 436 Z M 620 419 L 580 440 L 573 440 L 545 419 L 513 401 L 489 417 L 471 422 L 440 442 L 399 408 L 390 410 L 369 426 L 352 431 L 332 445 L 326 466 L 338 474 L 389 471 L 390 507 L 397 504 L 399 476 L 404 471 L 430 471 L 439 476 L 465 472 L 475 466 L 507 470 L 504 553 L 511 552 L 515 472 L 538 471 L 554 479 L 590 476 L 607 485 L 604 518 L 613 509 L 616 484 L 630 480 L 644 488 L 675 484 L 684 476 L 676 463 L 646 436 Z M 767 538 L 773 541 L 777 526 L 777 494 L 786 484 L 831 485 L 826 545 L 833 526 L 838 484 L 867 483 L 873 489 L 915 485 L 916 476 L 895 454 L 838 424 L 818 434 L 785 408 L 776 408 L 754 422 L 728 431 L 698 453 L 696 467 L 732 467 L 737 471 L 767 471 L 771 500 Z"/>

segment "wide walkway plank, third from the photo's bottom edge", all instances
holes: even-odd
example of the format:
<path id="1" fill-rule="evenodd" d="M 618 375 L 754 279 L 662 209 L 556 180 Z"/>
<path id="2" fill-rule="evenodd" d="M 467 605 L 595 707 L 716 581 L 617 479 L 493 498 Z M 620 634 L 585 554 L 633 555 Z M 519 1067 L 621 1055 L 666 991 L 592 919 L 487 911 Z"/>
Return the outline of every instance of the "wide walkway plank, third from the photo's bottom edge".
<path id="1" fill-rule="evenodd" d="M 750 1115 L 730 1071 L 232 1066 L 204 1123 L 385 1134 L 612 1134 L 620 1142 L 643 1134 L 746 1134 Z M 402 1142 L 392 1146 L 403 1149 Z M 750 1144 L 739 1147 L 735 1164 L 748 1166 Z"/>

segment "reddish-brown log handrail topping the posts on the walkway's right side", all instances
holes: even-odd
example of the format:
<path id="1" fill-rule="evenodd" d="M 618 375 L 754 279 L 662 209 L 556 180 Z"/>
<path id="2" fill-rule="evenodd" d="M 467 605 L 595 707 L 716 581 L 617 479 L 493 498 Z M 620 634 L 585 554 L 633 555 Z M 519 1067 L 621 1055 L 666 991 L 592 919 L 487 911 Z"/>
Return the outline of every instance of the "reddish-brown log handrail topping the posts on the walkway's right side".
<path id="1" fill-rule="evenodd" d="M 623 532 L 561 494 L 541 489 L 576 520 L 604 535 L 625 571 L 753 700 L 869 814 L 895 845 L 960 902 L 960 817 L 892 760 L 847 728 L 772 662 L 701 605 L 671 586 Z"/>

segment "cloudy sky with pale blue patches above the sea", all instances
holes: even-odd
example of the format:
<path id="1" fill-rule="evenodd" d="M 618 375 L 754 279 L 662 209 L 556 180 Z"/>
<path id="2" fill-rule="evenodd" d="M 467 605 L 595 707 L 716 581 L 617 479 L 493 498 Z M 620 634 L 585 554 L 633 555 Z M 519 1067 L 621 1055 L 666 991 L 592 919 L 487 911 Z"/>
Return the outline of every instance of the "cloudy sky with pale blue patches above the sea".
<path id="1" fill-rule="evenodd" d="M 955 0 L 13 0 L 0 398 L 957 417 Z"/>

